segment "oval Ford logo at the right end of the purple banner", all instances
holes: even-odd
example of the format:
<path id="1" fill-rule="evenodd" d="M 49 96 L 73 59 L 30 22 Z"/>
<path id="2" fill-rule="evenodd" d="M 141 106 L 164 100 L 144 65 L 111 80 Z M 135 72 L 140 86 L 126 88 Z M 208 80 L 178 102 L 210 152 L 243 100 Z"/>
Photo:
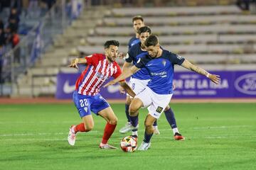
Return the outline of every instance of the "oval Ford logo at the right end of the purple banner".
<path id="1" fill-rule="evenodd" d="M 242 94 L 256 95 L 256 73 L 242 75 L 235 80 L 235 89 Z"/>

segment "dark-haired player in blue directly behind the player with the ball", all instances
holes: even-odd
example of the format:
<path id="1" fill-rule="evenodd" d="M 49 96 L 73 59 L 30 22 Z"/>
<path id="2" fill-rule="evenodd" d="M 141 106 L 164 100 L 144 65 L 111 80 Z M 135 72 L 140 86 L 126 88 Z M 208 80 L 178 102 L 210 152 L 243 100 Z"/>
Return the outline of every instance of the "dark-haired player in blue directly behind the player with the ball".
<path id="1" fill-rule="evenodd" d="M 144 42 L 146 41 L 146 38 L 151 35 L 151 29 L 148 26 L 143 26 L 139 28 L 139 40 L 140 42 L 136 45 L 133 45 L 129 52 L 127 53 L 127 57 L 125 57 L 125 62 L 123 66 L 123 71 L 126 72 L 129 67 L 132 66 L 132 64 L 136 64 L 139 60 L 139 57 L 142 57 L 146 53 Z M 142 68 L 139 70 L 139 72 L 136 72 L 132 75 L 131 79 L 129 80 L 129 86 L 132 87 L 135 94 L 139 94 L 140 91 L 142 91 L 146 84 L 148 84 L 151 76 L 149 75 L 149 72 L 146 70 L 146 68 Z M 131 100 L 129 98 L 129 100 Z M 131 100 L 132 101 L 132 100 Z M 129 102 L 131 103 L 131 102 Z M 128 112 L 128 111 L 127 111 Z M 168 120 L 169 124 L 171 125 L 171 128 L 174 132 L 174 139 L 175 140 L 184 140 L 185 137 L 183 137 L 179 132 L 176 124 L 176 119 L 174 116 L 174 112 L 171 110 L 169 106 L 167 106 L 164 110 L 164 113 L 166 115 L 166 119 Z M 126 128 L 124 130 L 132 130 L 132 135 L 137 135 L 137 124 L 138 120 L 134 121 L 134 125 L 129 126 L 129 128 Z M 158 135 L 160 132 L 157 128 L 156 122 L 153 125 L 154 128 L 154 134 Z M 127 132 L 125 131 L 125 132 Z M 122 129 L 119 130 L 119 132 L 122 132 Z M 124 133 L 124 132 L 122 132 Z"/>

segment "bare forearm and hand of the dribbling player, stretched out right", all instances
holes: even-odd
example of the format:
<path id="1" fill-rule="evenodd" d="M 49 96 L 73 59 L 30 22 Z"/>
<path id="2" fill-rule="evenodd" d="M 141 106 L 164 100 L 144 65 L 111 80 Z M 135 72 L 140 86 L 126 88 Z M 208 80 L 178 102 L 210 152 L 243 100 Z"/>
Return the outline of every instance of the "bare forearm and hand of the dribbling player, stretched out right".
<path id="1" fill-rule="evenodd" d="M 198 66 L 195 66 L 191 62 L 188 62 L 188 60 L 184 60 L 184 62 L 181 64 L 181 66 L 185 67 L 186 69 L 190 69 L 193 72 L 197 72 L 199 74 L 202 74 L 202 75 L 208 77 L 208 79 L 210 79 L 211 81 L 213 81 L 213 83 L 219 84 L 219 81 L 220 81 L 220 76 L 219 75 L 210 74 L 210 73 L 206 72 L 206 70 L 204 70 L 204 69 L 202 69 Z"/>

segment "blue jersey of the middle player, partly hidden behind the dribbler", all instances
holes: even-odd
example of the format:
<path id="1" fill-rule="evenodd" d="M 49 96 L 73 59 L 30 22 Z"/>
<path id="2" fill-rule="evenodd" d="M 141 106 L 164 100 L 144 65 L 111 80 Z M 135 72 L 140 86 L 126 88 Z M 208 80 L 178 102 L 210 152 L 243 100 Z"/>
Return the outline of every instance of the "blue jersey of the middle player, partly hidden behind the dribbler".
<path id="1" fill-rule="evenodd" d="M 141 42 L 137 43 L 136 45 L 133 45 L 128 53 L 127 57 L 125 58 L 126 62 L 132 62 L 134 65 L 138 62 L 140 57 L 143 57 L 144 55 L 147 55 L 148 53 L 146 51 L 142 51 L 141 48 Z M 146 68 L 142 68 L 139 70 L 139 72 L 136 72 L 132 75 L 132 78 L 134 79 L 150 79 L 149 72 L 146 70 Z"/>

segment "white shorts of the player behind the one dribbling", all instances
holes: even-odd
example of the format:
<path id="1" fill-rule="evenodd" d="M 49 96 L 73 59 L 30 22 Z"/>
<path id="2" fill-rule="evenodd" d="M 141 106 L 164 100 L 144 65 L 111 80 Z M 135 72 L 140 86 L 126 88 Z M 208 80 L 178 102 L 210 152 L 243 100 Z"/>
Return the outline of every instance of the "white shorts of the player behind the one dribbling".
<path id="1" fill-rule="evenodd" d="M 146 84 L 148 83 L 149 79 L 141 80 L 131 77 L 129 80 L 129 86 L 132 88 L 135 94 L 139 94 L 139 92 L 143 91 L 146 88 Z M 127 94 L 127 96 L 129 96 L 129 94 Z"/>

